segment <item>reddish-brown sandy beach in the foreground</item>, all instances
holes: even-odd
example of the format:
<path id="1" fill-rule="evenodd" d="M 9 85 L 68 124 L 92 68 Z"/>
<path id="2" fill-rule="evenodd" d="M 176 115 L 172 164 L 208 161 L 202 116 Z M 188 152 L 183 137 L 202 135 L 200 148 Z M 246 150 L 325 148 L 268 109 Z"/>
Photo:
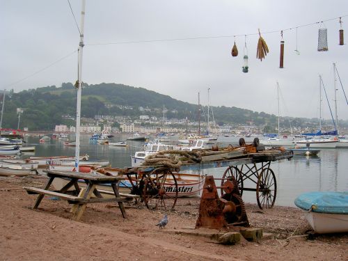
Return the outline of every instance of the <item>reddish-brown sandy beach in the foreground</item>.
<path id="1" fill-rule="evenodd" d="M 162 230 L 155 224 L 164 212 L 143 205 L 127 205 L 123 219 L 115 205 L 94 203 L 72 221 L 65 200 L 47 196 L 31 209 L 36 196 L 22 187 L 45 182 L 41 176 L 0 177 L 1 260 L 348 260 L 348 235 L 313 235 L 300 209 L 246 204 L 251 227 L 267 237 L 222 245 L 173 232 L 195 226 L 199 199 L 178 200 Z"/>

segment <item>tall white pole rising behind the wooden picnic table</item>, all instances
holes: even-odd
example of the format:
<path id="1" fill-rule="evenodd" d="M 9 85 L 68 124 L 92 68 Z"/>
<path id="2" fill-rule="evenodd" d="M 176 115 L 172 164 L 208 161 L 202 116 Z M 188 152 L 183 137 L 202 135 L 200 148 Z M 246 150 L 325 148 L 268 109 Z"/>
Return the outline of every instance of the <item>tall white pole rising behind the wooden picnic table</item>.
<path id="1" fill-rule="evenodd" d="M 79 65 L 78 65 L 78 86 L 77 86 L 77 105 L 76 105 L 76 150 L 75 150 L 75 171 L 79 172 L 80 157 L 80 122 L 81 122 L 81 90 L 82 90 L 82 54 L 84 49 L 84 22 L 85 22 L 86 0 L 82 0 L 81 8 L 81 28 L 79 42 Z"/>

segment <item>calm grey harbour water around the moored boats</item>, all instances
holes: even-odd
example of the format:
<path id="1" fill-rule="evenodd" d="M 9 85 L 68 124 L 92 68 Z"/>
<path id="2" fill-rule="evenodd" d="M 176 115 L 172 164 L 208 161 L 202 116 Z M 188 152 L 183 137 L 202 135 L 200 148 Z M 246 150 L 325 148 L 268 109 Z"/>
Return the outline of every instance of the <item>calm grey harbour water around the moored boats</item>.
<path id="1" fill-rule="evenodd" d="M 129 135 L 113 137 L 112 141 L 124 141 Z M 74 136 L 72 136 L 74 139 Z M 237 144 L 236 137 L 219 137 L 222 145 Z M 22 155 L 23 158 L 35 156 L 74 156 L 75 148 L 63 145 L 63 141 L 52 139 L 48 143 L 39 143 L 39 137 L 26 137 L 26 145 L 35 145 L 35 152 Z M 252 141 L 253 139 L 250 139 Z M 248 141 L 248 140 L 246 140 Z M 90 159 L 108 159 L 113 167 L 130 166 L 130 155 L 141 149 L 143 143 L 128 141 L 128 147 L 109 147 L 90 143 L 89 136 L 81 136 L 80 155 L 88 154 Z M 172 141 L 174 143 L 174 141 Z M 292 159 L 274 161 L 271 163 L 277 180 L 276 205 L 294 206 L 294 199 L 300 193 L 307 191 L 348 191 L 348 149 L 322 149 L 317 157 L 294 156 Z M 209 168 L 200 173 L 221 177 L 226 170 L 223 168 Z M 244 187 L 255 184 L 244 182 Z M 256 193 L 244 191 L 243 199 L 248 203 L 256 203 Z"/>

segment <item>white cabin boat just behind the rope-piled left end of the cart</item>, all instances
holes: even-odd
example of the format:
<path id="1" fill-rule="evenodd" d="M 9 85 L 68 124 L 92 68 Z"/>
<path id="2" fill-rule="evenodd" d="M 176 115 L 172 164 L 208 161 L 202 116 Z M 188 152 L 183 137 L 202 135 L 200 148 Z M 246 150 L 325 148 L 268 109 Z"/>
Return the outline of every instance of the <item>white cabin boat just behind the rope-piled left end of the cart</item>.
<path id="1" fill-rule="evenodd" d="M 132 167 L 140 166 L 148 155 L 153 155 L 163 150 L 174 150 L 175 148 L 176 146 L 174 145 L 162 144 L 159 141 L 150 141 L 143 145 L 143 150 L 136 151 L 134 156 L 131 156 Z"/>

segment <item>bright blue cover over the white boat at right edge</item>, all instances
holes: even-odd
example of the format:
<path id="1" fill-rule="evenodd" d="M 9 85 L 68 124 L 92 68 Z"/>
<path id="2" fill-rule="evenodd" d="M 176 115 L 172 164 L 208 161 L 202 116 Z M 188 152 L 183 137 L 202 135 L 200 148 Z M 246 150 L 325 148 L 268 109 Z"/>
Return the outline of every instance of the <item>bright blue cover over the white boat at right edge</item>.
<path id="1" fill-rule="evenodd" d="M 307 211 L 348 214 L 348 192 L 308 192 L 295 199 L 295 205 Z"/>

